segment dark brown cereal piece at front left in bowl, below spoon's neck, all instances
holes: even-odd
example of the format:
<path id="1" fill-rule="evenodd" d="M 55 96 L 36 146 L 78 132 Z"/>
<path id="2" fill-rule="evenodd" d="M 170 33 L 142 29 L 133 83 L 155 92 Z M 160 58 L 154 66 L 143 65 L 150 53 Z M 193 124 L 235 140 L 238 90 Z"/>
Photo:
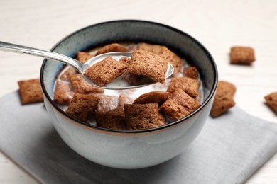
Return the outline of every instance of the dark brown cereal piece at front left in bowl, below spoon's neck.
<path id="1" fill-rule="evenodd" d="M 77 120 L 87 122 L 89 116 L 94 114 L 98 102 L 99 98 L 94 94 L 75 93 L 65 112 Z"/>

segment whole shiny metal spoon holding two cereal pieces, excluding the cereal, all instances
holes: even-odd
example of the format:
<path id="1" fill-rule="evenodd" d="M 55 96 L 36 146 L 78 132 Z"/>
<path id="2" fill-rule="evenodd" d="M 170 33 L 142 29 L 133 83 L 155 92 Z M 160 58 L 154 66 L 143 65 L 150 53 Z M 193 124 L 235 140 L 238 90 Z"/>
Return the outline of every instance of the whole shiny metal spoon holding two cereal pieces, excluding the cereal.
<path id="1" fill-rule="evenodd" d="M 131 52 L 109 52 L 106 54 L 100 54 L 96 57 L 92 57 L 92 59 L 89 59 L 87 62 L 82 63 L 78 62 L 76 59 L 72 59 L 71 57 L 67 57 L 63 54 L 59 54 L 56 52 L 50 52 L 45 50 L 39 50 L 32 47 L 26 47 L 23 45 L 16 45 L 9 42 L 1 42 L 0 41 L 0 50 L 7 51 L 7 52 L 16 52 L 16 53 L 22 53 L 22 54 L 31 54 L 33 56 L 38 57 L 44 57 L 47 59 L 53 59 L 58 62 L 62 62 L 64 64 L 70 65 L 70 67 L 73 67 L 79 71 L 80 74 L 84 77 L 84 79 L 89 82 L 89 84 L 92 84 L 93 86 L 97 86 L 97 84 L 94 84 L 92 81 L 85 76 L 85 70 L 92 66 L 92 64 L 95 64 L 97 62 L 102 61 L 106 57 L 112 57 L 116 60 L 119 60 L 121 57 L 131 57 Z M 169 76 L 173 74 L 174 67 L 172 64 L 168 63 L 168 70 L 165 74 L 165 79 L 167 79 Z M 129 84 L 126 81 L 123 81 L 121 77 L 116 78 L 111 83 L 105 85 L 105 86 L 97 86 L 99 88 L 106 88 L 106 89 L 128 89 L 128 88 L 139 88 L 143 86 L 147 86 L 149 84 L 156 83 L 156 81 L 153 81 L 149 79 L 148 77 L 142 77 L 141 80 L 136 84 Z"/>

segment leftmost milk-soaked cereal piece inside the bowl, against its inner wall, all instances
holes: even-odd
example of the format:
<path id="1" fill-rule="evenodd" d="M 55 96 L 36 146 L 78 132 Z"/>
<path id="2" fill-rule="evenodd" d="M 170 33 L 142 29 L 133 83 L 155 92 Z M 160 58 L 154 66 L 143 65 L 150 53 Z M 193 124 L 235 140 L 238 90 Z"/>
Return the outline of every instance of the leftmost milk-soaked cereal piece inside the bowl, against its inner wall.
<path id="1" fill-rule="evenodd" d="M 67 105 L 70 103 L 74 96 L 72 87 L 69 83 L 65 81 L 56 81 L 55 92 L 54 92 L 54 102 L 60 105 Z"/>

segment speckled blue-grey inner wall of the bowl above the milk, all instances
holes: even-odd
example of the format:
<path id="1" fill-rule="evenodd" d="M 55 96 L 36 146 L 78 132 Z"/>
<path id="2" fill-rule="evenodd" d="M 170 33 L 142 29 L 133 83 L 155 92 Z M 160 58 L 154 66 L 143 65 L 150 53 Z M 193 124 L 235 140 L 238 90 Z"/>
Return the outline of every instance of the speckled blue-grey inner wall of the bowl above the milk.
<path id="1" fill-rule="evenodd" d="M 110 21 L 90 25 L 60 40 L 52 51 L 75 57 L 77 51 L 90 50 L 112 42 L 147 42 L 165 45 L 180 57 L 186 59 L 189 64 L 197 67 L 200 73 L 204 100 L 197 110 L 203 108 L 212 98 L 217 86 L 217 68 L 212 56 L 195 38 L 167 25 L 134 20 Z M 53 99 L 55 79 L 62 67 L 63 64 L 60 62 L 45 59 L 41 68 L 40 81 L 45 96 L 51 103 L 53 103 L 51 99 Z M 58 108 L 55 103 L 53 105 Z M 60 110 L 60 112 L 64 113 L 63 110 Z"/>

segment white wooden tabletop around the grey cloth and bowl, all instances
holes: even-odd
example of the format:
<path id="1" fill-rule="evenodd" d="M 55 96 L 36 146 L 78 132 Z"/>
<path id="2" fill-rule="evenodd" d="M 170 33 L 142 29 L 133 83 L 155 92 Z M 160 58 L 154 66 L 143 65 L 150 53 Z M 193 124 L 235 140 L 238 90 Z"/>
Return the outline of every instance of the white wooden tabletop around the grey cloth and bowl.
<path id="1" fill-rule="evenodd" d="M 217 62 L 219 79 L 237 86 L 235 100 L 251 115 L 277 123 L 264 96 L 277 91 L 277 1 L 66 1 L 1 0 L 0 40 L 50 50 L 87 25 L 141 19 L 171 25 L 200 40 Z M 229 47 L 256 50 L 251 67 L 229 64 Z M 38 78 L 43 59 L 0 52 L 0 96 L 17 81 Z M 1 120 L 1 117 L 0 117 Z M 0 153 L 0 183 L 38 183 Z M 277 183 L 277 154 L 247 183 Z"/>

